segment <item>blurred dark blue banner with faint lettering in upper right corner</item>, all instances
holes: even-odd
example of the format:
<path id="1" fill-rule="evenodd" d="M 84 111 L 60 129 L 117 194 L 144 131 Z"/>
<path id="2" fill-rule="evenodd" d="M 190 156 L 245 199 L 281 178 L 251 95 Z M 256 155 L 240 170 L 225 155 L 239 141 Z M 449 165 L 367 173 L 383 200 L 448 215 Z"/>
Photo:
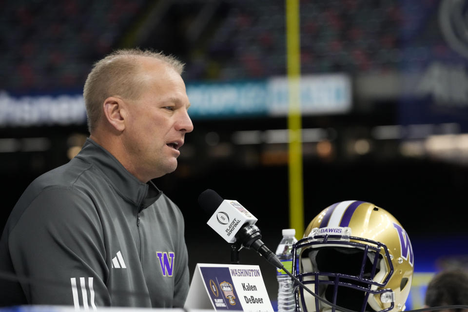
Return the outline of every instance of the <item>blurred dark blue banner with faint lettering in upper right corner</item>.
<path id="1" fill-rule="evenodd" d="M 403 1 L 399 121 L 468 132 L 468 1 Z"/>

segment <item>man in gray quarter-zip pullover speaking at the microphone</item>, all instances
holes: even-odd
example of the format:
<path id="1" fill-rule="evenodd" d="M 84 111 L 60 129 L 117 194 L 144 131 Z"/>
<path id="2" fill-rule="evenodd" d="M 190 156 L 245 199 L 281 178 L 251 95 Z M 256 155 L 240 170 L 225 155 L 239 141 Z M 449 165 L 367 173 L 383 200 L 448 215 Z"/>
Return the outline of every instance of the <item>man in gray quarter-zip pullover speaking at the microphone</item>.
<path id="1" fill-rule="evenodd" d="M 182 307 L 184 221 L 151 179 L 193 130 L 178 60 L 120 50 L 84 86 L 90 137 L 31 183 L 0 240 L 2 305 Z"/>

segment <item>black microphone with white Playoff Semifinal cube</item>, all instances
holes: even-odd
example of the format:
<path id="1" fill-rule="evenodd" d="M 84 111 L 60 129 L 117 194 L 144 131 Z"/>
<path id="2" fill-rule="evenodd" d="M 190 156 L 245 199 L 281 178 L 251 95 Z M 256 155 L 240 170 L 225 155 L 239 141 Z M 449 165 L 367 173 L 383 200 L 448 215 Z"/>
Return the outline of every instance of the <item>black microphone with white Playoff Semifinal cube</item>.
<path id="1" fill-rule="evenodd" d="M 241 243 L 254 249 L 275 267 L 283 264 L 262 242 L 260 229 L 255 225 L 257 218 L 236 200 L 225 200 L 215 191 L 207 189 L 198 196 L 198 204 L 209 215 L 207 224 L 229 243 Z"/>

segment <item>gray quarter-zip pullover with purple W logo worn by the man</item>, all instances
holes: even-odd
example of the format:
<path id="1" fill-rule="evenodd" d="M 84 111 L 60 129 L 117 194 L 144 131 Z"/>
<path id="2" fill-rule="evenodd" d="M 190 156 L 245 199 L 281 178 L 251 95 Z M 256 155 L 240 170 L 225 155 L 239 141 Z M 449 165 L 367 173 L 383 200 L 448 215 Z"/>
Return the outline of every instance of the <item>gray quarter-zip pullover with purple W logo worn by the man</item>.
<path id="1" fill-rule="evenodd" d="M 28 186 L 0 240 L 3 306 L 183 307 L 188 288 L 179 209 L 90 138 Z"/>

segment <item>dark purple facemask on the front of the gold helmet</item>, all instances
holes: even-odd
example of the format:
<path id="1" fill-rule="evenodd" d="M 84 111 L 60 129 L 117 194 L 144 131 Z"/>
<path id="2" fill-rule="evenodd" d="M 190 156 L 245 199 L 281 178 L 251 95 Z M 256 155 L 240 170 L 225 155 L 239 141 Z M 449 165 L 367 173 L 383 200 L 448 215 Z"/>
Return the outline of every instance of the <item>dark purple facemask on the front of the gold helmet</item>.
<path id="1" fill-rule="evenodd" d="M 340 307 L 357 312 L 391 310 L 393 303 L 382 310 L 374 299 L 375 294 L 391 297 L 390 289 L 378 290 L 393 271 L 391 262 L 384 260 L 387 257 L 390 260 L 387 248 L 378 242 L 349 238 L 352 241 L 329 240 L 328 235 L 318 241 L 300 240 L 295 250 L 301 250 L 300 272 L 303 273 L 296 274 L 297 277 L 320 297 Z M 299 293 L 303 311 L 335 311 L 308 292 L 301 289 Z M 317 305 L 319 309 L 315 309 Z"/>

